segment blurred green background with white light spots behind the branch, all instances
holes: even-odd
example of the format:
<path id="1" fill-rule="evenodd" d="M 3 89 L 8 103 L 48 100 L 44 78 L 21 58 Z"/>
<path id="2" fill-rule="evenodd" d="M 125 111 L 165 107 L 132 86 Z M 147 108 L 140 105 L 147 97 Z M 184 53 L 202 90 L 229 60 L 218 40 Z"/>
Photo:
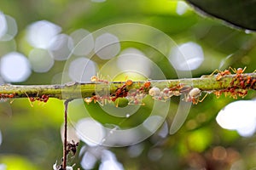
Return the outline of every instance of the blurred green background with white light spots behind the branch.
<path id="1" fill-rule="evenodd" d="M 142 30 L 115 25 L 122 23 L 141 24 L 138 28 Z M 144 28 L 157 29 L 161 34 L 148 34 L 150 31 Z M 131 35 L 134 31 L 131 37 L 142 42 L 126 41 L 123 31 Z M 164 35 L 170 37 L 169 42 L 162 42 Z M 150 47 L 151 40 L 160 48 L 168 48 L 166 54 Z M 255 44 L 253 32 L 202 16 L 184 1 L 0 3 L 1 83 L 87 82 L 97 74 L 108 81 L 125 81 L 125 77 L 189 78 L 229 66 L 247 66 L 245 72 L 251 72 L 256 63 Z M 187 65 L 183 65 L 184 60 Z M 210 94 L 202 103 L 191 106 L 183 126 L 173 134 L 169 130 L 183 97 L 158 102 L 145 96 L 145 105 L 122 105 L 120 100 L 119 108 L 74 100 L 68 108 L 69 138 L 80 144 L 77 155 L 68 158 L 68 165 L 75 164 L 74 169 L 253 169 L 254 97 L 253 91 L 243 99 L 224 95 L 217 99 Z M 161 105 L 168 108 L 166 112 Z M 152 132 L 127 146 L 104 145 L 103 127 L 108 127 L 110 133 L 113 129 L 137 127 L 153 110 L 156 115 L 163 114 L 165 120 L 152 121 Z M 28 99 L 1 99 L 0 170 L 52 169 L 56 161 L 61 163 L 63 114 L 63 101 L 59 99 L 32 105 Z M 73 128 L 79 133 L 73 133 Z M 86 135 L 92 141 L 84 138 Z M 125 143 L 129 138 L 119 141 Z"/>

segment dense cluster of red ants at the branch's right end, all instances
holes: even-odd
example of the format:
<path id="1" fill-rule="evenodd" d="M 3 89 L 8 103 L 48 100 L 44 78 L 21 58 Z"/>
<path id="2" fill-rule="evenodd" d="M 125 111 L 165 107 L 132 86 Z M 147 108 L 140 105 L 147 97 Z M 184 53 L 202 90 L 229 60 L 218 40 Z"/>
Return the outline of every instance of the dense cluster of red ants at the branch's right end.
<path id="1" fill-rule="evenodd" d="M 243 75 L 246 67 L 244 69 L 238 68 L 237 70 L 230 67 L 229 70 L 218 71 L 216 80 L 220 80 L 221 77 L 224 77 L 225 75 L 230 75 L 230 70 L 236 74 L 236 76 L 233 77 L 232 81 L 230 82 L 230 88 L 214 91 L 213 94 L 215 94 L 217 98 L 221 94 L 224 94 L 225 96 L 230 95 L 230 97 L 232 97 L 233 99 L 237 99 L 237 96 L 242 98 L 245 97 L 247 95 L 247 89 L 254 87 L 256 79 L 253 79 L 251 76 L 245 77 Z M 216 71 L 213 71 L 212 73 L 214 72 Z"/>

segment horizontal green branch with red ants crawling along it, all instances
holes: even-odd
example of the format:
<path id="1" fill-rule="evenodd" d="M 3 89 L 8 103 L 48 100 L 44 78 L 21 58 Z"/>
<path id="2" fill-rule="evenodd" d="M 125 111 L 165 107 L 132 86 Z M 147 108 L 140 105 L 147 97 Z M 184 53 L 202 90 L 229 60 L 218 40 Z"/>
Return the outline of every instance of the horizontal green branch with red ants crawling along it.
<path id="1" fill-rule="evenodd" d="M 145 86 L 147 84 L 147 87 Z M 213 75 L 198 78 L 183 78 L 173 80 L 148 80 L 141 82 L 69 82 L 63 85 L 0 85 L 0 97 L 31 98 L 45 102 L 48 98 L 57 99 L 85 99 L 93 96 L 108 96 L 115 100 L 126 97 L 131 89 L 137 89 L 138 93 L 148 94 L 153 88 L 177 91 L 180 94 L 188 94 L 192 88 L 199 88 L 201 92 L 232 93 L 233 91 L 247 91 L 256 89 L 256 73 L 243 73 L 232 75 Z M 139 92 L 140 91 L 140 92 Z M 125 94 L 126 93 L 126 94 Z M 235 93 L 235 92 L 234 92 Z M 113 99 L 114 98 L 114 99 Z"/>

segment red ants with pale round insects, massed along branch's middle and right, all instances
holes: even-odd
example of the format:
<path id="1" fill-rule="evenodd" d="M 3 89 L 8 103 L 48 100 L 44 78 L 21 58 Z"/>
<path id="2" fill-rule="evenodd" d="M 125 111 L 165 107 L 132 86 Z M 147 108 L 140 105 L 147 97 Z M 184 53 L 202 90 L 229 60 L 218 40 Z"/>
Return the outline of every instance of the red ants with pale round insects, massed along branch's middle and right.
<path id="1" fill-rule="evenodd" d="M 160 100 L 160 101 L 166 101 L 172 96 L 181 96 L 183 94 L 184 98 L 183 100 L 186 102 L 192 102 L 193 104 L 198 104 L 199 102 L 202 102 L 206 97 L 207 94 L 215 94 L 217 98 L 224 94 L 225 96 L 230 96 L 234 99 L 237 99 L 237 96 L 239 97 L 245 97 L 247 95 L 247 89 L 253 88 L 256 79 L 251 77 L 250 75 L 244 76 L 243 73 L 245 71 L 246 67 L 244 69 L 238 68 L 237 70 L 235 68 L 230 67 L 228 70 L 224 71 L 218 71 L 215 70 L 212 72 L 210 77 L 215 76 L 217 81 L 220 81 L 223 77 L 229 76 L 232 74 L 236 74 L 231 82 L 230 87 L 220 89 L 220 90 L 213 90 L 213 91 L 206 91 L 206 94 L 201 97 L 201 94 L 203 91 L 200 88 L 194 88 L 190 85 L 185 85 L 183 83 L 177 83 L 177 85 L 166 88 L 158 88 L 151 84 L 151 82 L 146 81 L 140 85 L 138 82 L 138 88 L 131 87 L 134 82 L 131 80 L 127 80 L 122 84 L 121 86 L 117 87 L 115 92 L 113 94 L 106 94 L 106 95 L 93 95 L 90 98 L 85 98 L 84 101 L 87 104 L 90 104 L 90 102 L 94 101 L 95 103 L 98 102 L 101 105 L 104 105 L 111 101 L 116 101 L 119 98 L 125 98 L 128 99 L 128 105 L 144 105 L 143 104 L 143 98 L 148 94 L 152 97 L 152 99 Z M 255 71 L 253 71 L 255 72 Z M 216 74 L 217 73 L 217 74 Z M 103 82 L 103 83 L 109 83 L 106 80 L 102 80 L 98 77 L 92 77 L 92 82 Z M 222 83 L 222 82 L 220 82 Z M 103 102 L 103 100 L 105 102 Z M 118 104 L 116 105 L 118 107 Z"/>

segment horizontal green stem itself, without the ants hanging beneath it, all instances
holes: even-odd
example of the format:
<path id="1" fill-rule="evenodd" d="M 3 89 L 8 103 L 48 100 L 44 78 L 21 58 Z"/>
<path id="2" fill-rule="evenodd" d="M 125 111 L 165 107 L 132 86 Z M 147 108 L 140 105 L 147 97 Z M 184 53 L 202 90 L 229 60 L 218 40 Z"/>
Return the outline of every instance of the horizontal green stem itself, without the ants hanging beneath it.
<path id="1" fill-rule="evenodd" d="M 217 80 L 216 75 L 202 76 L 198 78 L 183 78 L 172 80 L 150 80 L 133 82 L 131 88 L 141 88 L 143 83 L 151 82 L 151 87 L 157 88 L 174 88 L 177 84 L 182 83 L 185 86 L 193 88 L 200 88 L 202 92 L 211 92 L 214 90 L 224 90 L 227 88 L 235 87 L 236 89 L 256 89 L 256 83 L 253 82 L 247 88 L 241 87 L 240 84 L 235 83 L 236 74 L 226 75 Z M 252 81 L 256 80 L 256 73 L 243 73 L 241 75 L 242 80 L 247 80 L 247 77 L 251 77 Z M 251 82 L 252 83 L 252 82 Z M 27 98 L 27 97 L 41 97 L 42 95 L 48 95 L 50 98 L 57 99 L 83 99 L 92 97 L 97 93 L 114 94 L 117 88 L 124 85 L 125 82 L 69 82 L 63 85 L 0 85 L 0 97 L 4 98 Z M 4 95 L 6 94 L 6 95 Z M 8 94 L 15 94 L 11 96 Z"/>

